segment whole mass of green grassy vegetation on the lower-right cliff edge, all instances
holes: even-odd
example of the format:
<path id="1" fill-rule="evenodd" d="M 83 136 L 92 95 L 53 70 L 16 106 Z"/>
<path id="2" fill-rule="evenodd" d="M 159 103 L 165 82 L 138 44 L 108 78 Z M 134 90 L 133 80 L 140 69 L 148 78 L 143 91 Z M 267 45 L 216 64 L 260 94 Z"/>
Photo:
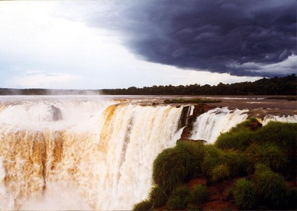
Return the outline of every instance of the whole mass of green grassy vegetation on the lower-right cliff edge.
<path id="1" fill-rule="evenodd" d="M 297 123 L 262 126 L 255 118 L 221 134 L 214 144 L 179 141 L 155 158 L 155 187 L 146 203 L 151 209 L 203 210 L 211 194 L 218 197 L 211 192 L 218 186 L 227 188 L 222 200 L 241 210 L 294 210 L 297 189 L 287 181 L 297 176 L 296 148 Z"/>

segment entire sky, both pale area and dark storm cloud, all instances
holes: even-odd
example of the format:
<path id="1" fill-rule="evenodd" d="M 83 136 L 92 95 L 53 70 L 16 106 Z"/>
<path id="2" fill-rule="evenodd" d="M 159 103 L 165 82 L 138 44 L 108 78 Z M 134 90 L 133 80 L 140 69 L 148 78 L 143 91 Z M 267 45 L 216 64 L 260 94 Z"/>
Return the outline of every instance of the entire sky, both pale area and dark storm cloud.
<path id="1" fill-rule="evenodd" d="M 0 1 L 0 87 L 103 89 L 296 73 L 296 0 Z"/>

